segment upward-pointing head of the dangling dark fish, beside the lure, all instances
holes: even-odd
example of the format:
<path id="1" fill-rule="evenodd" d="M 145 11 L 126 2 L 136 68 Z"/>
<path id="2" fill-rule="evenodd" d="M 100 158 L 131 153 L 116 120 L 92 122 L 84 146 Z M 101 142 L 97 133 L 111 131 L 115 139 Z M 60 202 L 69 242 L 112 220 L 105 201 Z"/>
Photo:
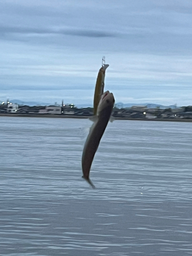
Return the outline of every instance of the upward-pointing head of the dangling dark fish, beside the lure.
<path id="1" fill-rule="evenodd" d="M 114 103 L 115 99 L 113 93 L 109 91 L 104 92 L 98 104 L 97 115 L 100 115 L 101 112 L 108 109 L 112 112 Z"/>

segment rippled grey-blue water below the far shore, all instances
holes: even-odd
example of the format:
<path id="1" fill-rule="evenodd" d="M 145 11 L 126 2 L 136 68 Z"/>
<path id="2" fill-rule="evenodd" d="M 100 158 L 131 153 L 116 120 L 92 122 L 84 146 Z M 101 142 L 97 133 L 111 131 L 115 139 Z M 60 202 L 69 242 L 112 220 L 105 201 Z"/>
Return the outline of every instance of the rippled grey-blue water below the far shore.
<path id="1" fill-rule="evenodd" d="M 191 123 L 0 117 L 0 255 L 191 255 Z"/>

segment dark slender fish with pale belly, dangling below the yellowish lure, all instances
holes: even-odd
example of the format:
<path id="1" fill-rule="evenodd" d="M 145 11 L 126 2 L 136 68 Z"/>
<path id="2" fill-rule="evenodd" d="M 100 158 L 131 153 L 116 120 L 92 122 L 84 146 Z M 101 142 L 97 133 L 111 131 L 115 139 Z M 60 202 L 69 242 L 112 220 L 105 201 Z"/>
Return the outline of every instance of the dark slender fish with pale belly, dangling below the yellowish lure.
<path id="1" fill-rule="evenodd" d="M 93 188 L 94 185 L 89 178 L 89 173 L 99 142 L 105 131 L 106 125 L 109 122 L 114 102 L 115 99 L 113 93 L 110 93 L 109 91 L 103 93 L 98 104 L 96 120 L 90 128 L 90 132 L 82 152 L 82 178 L 87 180 Z"/>

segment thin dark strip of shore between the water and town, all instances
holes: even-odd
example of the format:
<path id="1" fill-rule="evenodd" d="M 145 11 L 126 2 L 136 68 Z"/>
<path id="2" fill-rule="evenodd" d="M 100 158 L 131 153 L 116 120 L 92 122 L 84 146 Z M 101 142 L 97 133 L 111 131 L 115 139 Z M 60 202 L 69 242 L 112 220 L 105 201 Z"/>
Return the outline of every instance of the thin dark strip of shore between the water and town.
<path id="1" fill-rule="evenodd" d="M 37 117 L 37 118 L 77 118 L 77 119 L 88 119 L 91 116 L 72 116 L 72 115 L 25 115 L 25 114 L 0 114 L 0 117 Z M 115 117 L 115 120 L 135 120 L 135 121 L 164 121 L 164 122 L 192 122 L 192 119 L 164 119 L 164 118 L 126 118 L 126 117 Z"/>

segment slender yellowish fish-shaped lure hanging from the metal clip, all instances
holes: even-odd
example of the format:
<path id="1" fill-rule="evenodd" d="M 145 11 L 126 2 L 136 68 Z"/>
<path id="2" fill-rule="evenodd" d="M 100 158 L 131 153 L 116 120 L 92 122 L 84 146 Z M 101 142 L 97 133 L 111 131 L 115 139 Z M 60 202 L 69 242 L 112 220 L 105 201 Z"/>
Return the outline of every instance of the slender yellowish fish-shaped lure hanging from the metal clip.
<path id="1" fill-rule="evenodd" d="M 94 93 L 94 101 L 93 101 L 93 114 L 96 115 L 97 108 L 101 96 L 104 91 L 104 77 L 105 77 L 105 70 L 109 67 L 108 64 L 103 64 L 99 70 L 97 75 L 96 85 L 95 85 L 95 93 Z"/>

